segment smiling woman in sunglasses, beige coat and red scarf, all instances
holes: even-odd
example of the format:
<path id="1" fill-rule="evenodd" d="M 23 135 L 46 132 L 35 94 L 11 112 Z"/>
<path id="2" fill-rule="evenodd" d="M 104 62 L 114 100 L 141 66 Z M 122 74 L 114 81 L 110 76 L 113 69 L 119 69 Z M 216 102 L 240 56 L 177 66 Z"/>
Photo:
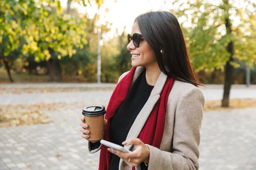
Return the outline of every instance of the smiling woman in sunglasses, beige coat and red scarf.
<path id="1" fill-rule="evenodd" d="M 127 49 L 132 68 L 111 96 L 104 139 L 132 152 L 89 142 L 90 153 L 101 149 L 99 170 L 198 170 L 204 95 L 177 18 L 167 11 L 141 14 Z"/>

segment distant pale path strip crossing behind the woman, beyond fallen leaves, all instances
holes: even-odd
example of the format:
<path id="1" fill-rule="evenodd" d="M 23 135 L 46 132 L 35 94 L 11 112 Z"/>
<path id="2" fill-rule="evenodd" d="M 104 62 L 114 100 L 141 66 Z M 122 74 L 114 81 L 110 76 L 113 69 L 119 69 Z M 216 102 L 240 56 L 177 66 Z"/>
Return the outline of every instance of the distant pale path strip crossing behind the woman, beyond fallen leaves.
<path id="1" fill-rule="evenodd" d="M 52 102 L 85 102 L 86 104 L 93 103 L 108 103 L 113 90 L 101 90 L 103 85 L 98 84 L 73 84 L 74 87 L 87 87 L 87 88 L 99 88 L 97 91 L 81 91 L 81 92 L 63 92 L 63 93 L 43 93 L 43 94 L 3 94 L 0 95 L 0 105 L 8 104 L 34 104 L 34 103 L 52 103 Z M 36 85 L 37 88 L 39 85 Z M 201 87 L 204 93 L 206 101 L 222 99 L 223 88 L 221 85 L 207 85 L 209 88 Z M 7 85 L 1 85 L 0 88 L 7 88 Z M 9 88 L 36 88 L 34 84 L 29 85 L 10 85 Z M 43 84 L 41 88 L 65 88 L 72 87 L 72 84 Z M 105 87 L 113 88 L 114 84 L 105 84 Z M 15 89 L 13 89 L 15 90 Z M 256 98 L 256 86 L 246 88 L 244 85 L 235 85 L 230 91 L 230 99 L 244 99 L 244 98 Z"/>

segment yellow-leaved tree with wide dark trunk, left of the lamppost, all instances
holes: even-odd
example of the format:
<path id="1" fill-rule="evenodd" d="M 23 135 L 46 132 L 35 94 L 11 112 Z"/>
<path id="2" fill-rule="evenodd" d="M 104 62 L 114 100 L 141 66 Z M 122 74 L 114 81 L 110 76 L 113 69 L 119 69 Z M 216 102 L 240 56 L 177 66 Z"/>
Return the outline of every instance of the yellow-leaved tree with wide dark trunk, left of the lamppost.
<path id="1" fill-rule="evenodd" d="M 84 1 L 79 2 L 84 4 Z M 23 54 L 33 54 L 36 62 L 46 60 L 50 80 L 60 81 L 59 59 L 72 57 L 76 54 L 74 46 L 82 49 L 87 43 L 86 18 L 64 14 L 59 0 L 8 0 L 0 3 L 0 43 L 3 37 L 8 38 L 0 51 L 5 60 L 18 48 L 23 36 L 27 42 L 23 45 Z"/>

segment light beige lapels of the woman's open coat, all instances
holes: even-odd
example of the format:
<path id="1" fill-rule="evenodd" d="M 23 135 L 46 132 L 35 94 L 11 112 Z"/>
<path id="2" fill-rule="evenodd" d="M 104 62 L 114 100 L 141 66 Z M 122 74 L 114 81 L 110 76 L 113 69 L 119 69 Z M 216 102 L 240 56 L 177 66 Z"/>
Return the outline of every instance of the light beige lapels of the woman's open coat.
<path id="1" fill-rule="evenodd" d="M 137 67 L 136 68 L 134 77 L 132 80 L 132 85 L 144 70 L 145 70 L 145 67 Z M 126 140 L 131 139 L 131 138 L 137 138 L 140 135 L 140 131 L 143 129 L 143 126 L 145 125 L 145 122 L 147 121 L 148 116 L 150 115 L 151 111 L 154 108 L 154 105 L 156 104 L 156 102 L 158 101 L 158 99 L 160 97 L 160 93 L 163 89 L 166 79 L 167 79 L 167 76 L 165 74 L 163 74 L 163 72 L 161 72 L 153 90 L 151 91 L 151 94 L 150 94 L 147 102 L 145 103 L 145 105 L 141 109 L 140 113 L 138 114 L 137 118 L 135 119 L 133 125 L 131 126 L 131 129 L 129 130 Z M 132 145 L 124 146 L 124 148 L 128 149 L 128 150 L 130 150 L 131 147 L 132 147 Z M 126 166 L 128 166 L 128 165 L 122 159 L 120 159 L 119 170 L 120 169 L 129 170 L 130 169 L 129 166 L 128 167 L 126 167 Z M 121 168 L 121 167 L 123 167 L 123 168 Z"/>

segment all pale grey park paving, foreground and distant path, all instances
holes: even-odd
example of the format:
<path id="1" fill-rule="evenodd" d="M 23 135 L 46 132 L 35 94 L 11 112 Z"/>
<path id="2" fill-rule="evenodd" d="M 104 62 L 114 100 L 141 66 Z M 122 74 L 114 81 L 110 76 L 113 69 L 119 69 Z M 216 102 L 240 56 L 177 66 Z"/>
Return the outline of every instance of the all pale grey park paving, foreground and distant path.
<path id="1" fill-rule="evenodd" d="M 203 92 L 207 100 L 222 96 L 221 88 Z M 77 101 L 106 105 L 111 93 L 9 94 L 0 95 L 0 105 Z M 255 98 L 254 94 L 255 88 L 231 90 L 231 98 Z M 0 170 L 97 170 L 99 152 L 88 153 L 80 136 L 81 108 L 69 105 L 45 114 L 51 123 L 0 128 Z M 255 170 L 255 129 L 256 108 L 205 112 L 199 170 Z"/>

